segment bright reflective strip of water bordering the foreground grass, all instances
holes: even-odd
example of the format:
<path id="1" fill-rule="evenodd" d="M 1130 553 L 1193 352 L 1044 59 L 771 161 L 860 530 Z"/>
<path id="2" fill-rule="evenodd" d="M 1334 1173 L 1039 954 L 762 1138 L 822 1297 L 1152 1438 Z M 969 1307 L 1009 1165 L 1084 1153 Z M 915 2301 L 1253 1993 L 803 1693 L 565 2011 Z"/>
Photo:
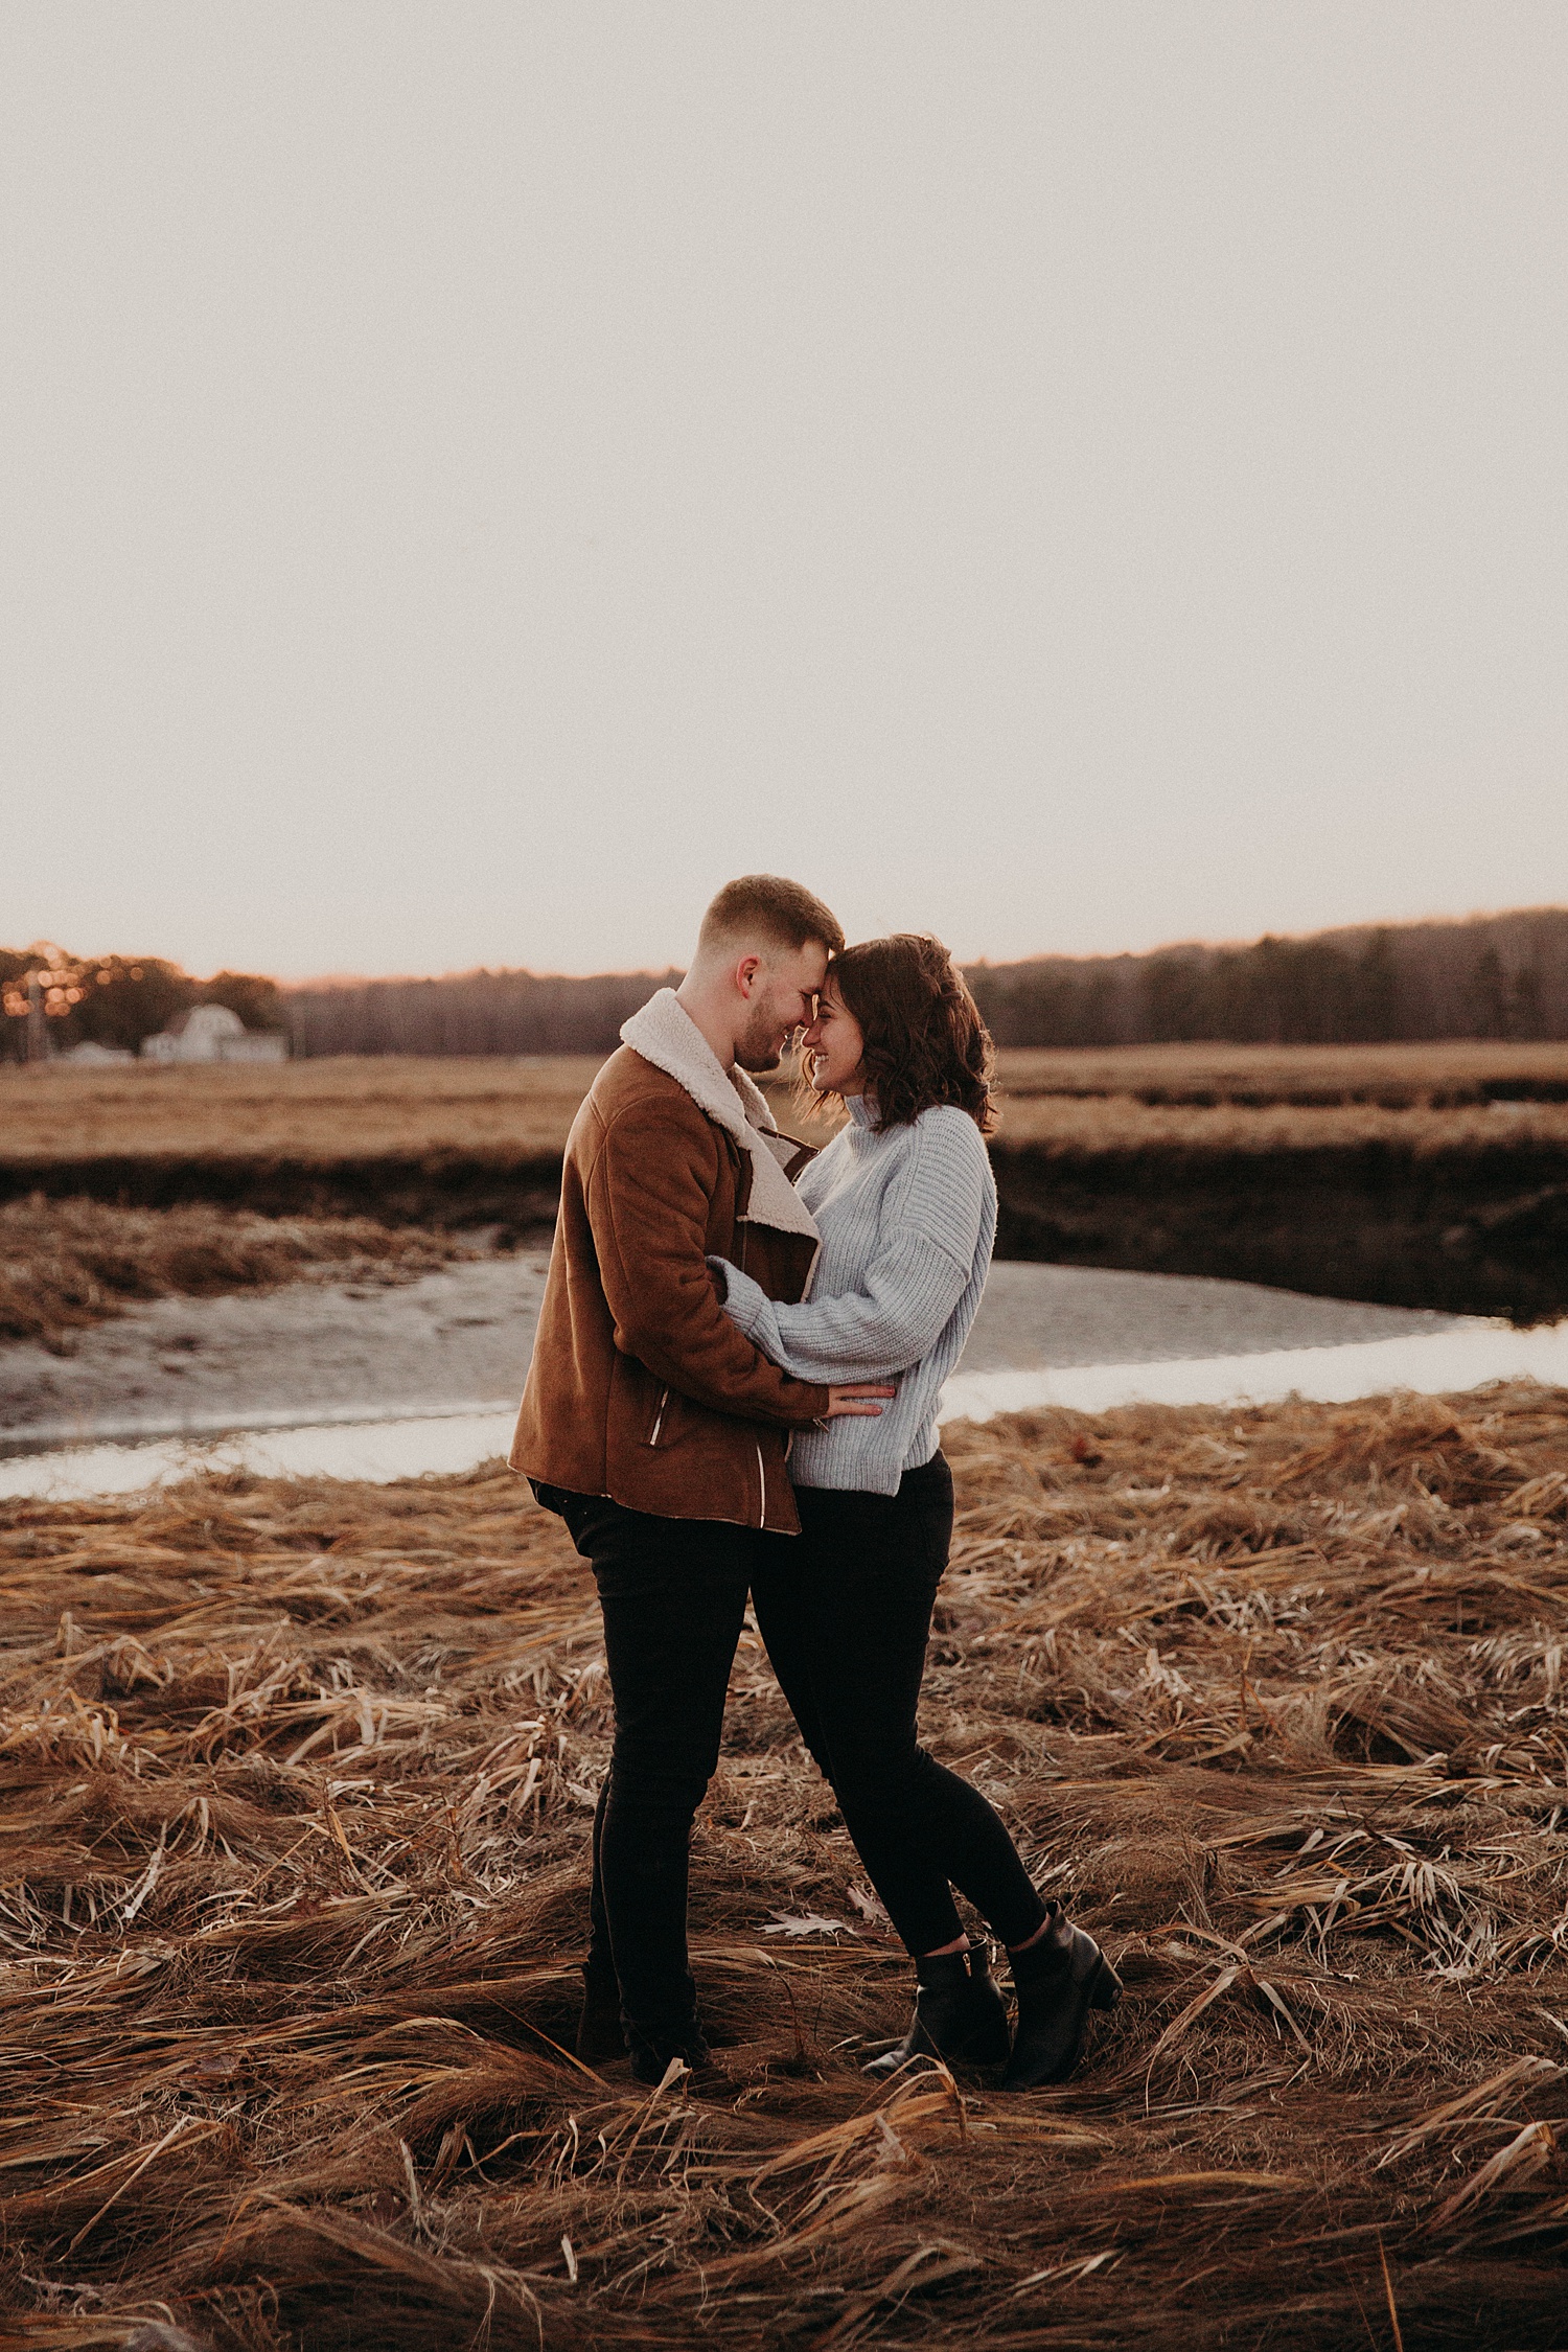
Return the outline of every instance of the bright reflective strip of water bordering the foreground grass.
<path id="1" fill-rule="evenodd" d="M 1039 1404 L 1105 1411 L 1112 1404 L 1269 1404 L 1302 1395 L 1324 1402 L 1375 1397 L 1389 1388 L 1479 1388 L 1535 1378 L 1568 1385 L 1568 1322 L 1540 1331 L 1472 1319 L 1410 1338 L 1345 1348 L 1279 1348 L 1260 1355 L 1180 1357 L 1166 1364 L 1056 1364 L 1025 1371 L 961 1371 L 943 1392 L 945 1421 L 987 1421 Z M 310 1428 L 235 1430 L 207 1439 L 82 1444 L 0 1461 L 0 1496 L 132 1494 L 193 1470 L 254 1470 L 263 1477 L 397 1479 L 473 1470 L 505 1454 L 512 1399 L 418 1418 L 334 1421 Z"/>

